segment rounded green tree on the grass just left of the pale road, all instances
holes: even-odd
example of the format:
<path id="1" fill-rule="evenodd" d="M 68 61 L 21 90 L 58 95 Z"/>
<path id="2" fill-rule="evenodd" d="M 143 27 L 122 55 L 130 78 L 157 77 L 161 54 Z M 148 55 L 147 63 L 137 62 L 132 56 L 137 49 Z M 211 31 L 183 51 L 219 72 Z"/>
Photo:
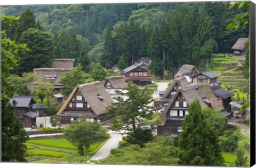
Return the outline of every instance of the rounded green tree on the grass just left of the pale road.
<path id="1" fill-rule="evenodd" d="M 65 138 L 77 147 L 78 153 L 84 155 L 84 148 L 89 153 L 93 143 L 107 138 L 105 129 L 99 123 L 87 122 L 85 118 L 72 122 L 64 131 Z"/>

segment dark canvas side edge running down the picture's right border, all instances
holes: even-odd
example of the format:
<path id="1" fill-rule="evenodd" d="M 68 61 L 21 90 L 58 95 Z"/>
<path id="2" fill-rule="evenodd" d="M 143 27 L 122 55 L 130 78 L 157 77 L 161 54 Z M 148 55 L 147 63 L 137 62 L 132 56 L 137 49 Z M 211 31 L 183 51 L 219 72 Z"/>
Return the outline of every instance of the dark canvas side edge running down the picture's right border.
<path id="1" fill-rule="evenodd" d="M 255 3 L 250 2 L 250 130 L 251 166 L 255 165 Z"/>

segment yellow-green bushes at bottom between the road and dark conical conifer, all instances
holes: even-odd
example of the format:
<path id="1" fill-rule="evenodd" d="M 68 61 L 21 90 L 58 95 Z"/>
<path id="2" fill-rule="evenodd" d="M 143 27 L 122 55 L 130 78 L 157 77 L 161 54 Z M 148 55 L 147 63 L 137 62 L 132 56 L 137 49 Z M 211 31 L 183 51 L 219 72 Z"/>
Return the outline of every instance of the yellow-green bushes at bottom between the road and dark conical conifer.
<path id="1" fill-rule="evenodd" d="M 122 141 L 121 141 L 122 142 Z M 122 165 L 178 165 L 177 148 L 173 146 L 173 137 L 156 137 L 152 142 L 145 143 L 145 147 L 138 145 L 119 145 L 111 150 L 111 155 L 101 159 L 99 164 Z"/>

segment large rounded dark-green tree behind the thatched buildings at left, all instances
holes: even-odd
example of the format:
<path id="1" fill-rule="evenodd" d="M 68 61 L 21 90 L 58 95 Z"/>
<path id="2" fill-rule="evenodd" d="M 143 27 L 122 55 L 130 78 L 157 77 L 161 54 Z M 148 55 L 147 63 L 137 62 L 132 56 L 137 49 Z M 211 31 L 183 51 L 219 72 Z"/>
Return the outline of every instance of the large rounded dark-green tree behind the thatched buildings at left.
<path id="1" fill-rule="evenodd" d="M 26 43 L 30 49 L 21 57 L 20 74 L 33 71 L 34 68 L 50 67 L 55 51 L 54 38 L 51 33 L 29 28 L 22 33 L 20 42 Z"/>

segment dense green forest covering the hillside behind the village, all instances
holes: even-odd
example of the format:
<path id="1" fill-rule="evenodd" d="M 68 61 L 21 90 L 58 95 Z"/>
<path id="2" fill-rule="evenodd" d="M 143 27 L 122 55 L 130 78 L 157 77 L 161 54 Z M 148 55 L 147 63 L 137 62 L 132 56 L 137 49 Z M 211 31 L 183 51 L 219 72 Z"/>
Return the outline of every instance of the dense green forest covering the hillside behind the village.
<path id="1" fill-rule="evenodd" d="M 123 56 L 126 66 L 150 57 L 150 70 L 162 78 L 164 70 L 172 77 L 185 63 L 210 69 L 213 53 L 231 52 L 239 37 L 249 35 L 248 25 L 226 30 L 249 9 L 242 10 L 229 9 L 229 2 L 9 5 L 2 13 L 20 17 L 2 30 L 30 49 L 15 74 L 49 67 L 54 58 L 109 69 Z"/>

